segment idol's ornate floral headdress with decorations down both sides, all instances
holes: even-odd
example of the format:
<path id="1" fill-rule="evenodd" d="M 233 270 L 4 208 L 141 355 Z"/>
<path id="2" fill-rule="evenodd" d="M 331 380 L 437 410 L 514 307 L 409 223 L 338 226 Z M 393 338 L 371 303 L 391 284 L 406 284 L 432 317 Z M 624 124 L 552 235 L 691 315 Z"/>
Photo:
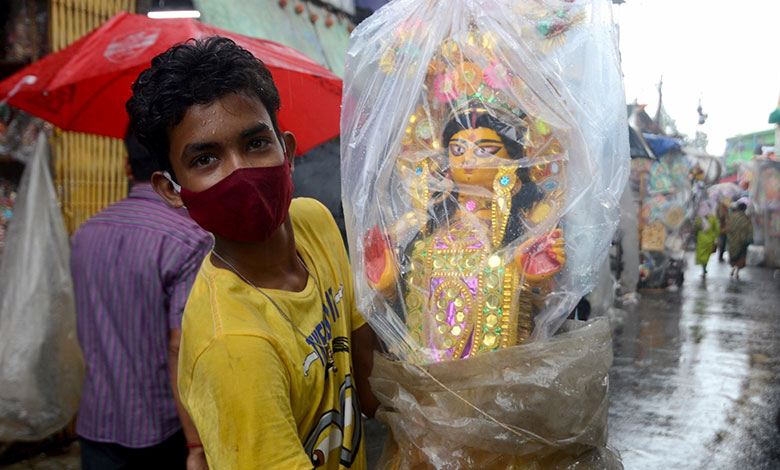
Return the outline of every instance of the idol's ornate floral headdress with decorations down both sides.
<path id="1" fill-rule="evenodd" d="M 539 16 L 534 34 L 545 47 L 552 38 L 562 40 L 560 34 L 576 17 L 561 11 L 540 12 L 529 14 Z M 380 55 L 380 68 L 385 73 L 394 73 L 396 66 L 407 70 L 423 66 L 414 65 L 421 54 L 411 39 L 417 36 L 417 26 L 402 25 L 396 37 L 385 43 Z M 446 170 L 447 143 L 442 142 L 445 127 L 453 121 L 464 128 L 474 127 L 481 114 L 494 118 L 491 127 L 506 144 L 510 140 L 514 147 L 522 149 L 510 152 L 513 159 L 523 159 L 514 163 L 514 168 L 527 167 L 530 178 L 547 193 L 548 200 L 560 197 L 563 171 L 558 161 L 567 158 L 560 136 L 542 117 L 535 93 L 508 66 L 493 32 L 472 26 L 466 33 L 447 38 L 434 50 L 425 68 L 422 95 L 409 116 L 397 156 L 399 172 L 408 183 L 416 210 L 426 210 L 436 192 L 431 183 L 441 180 L 429 175 Z M 501 178 L 509 179 L 514 186 L 514 169 L 502 171 Z M 506 192 L 511 188 L 497 184 L 496 191 L 499 190 Z"/>

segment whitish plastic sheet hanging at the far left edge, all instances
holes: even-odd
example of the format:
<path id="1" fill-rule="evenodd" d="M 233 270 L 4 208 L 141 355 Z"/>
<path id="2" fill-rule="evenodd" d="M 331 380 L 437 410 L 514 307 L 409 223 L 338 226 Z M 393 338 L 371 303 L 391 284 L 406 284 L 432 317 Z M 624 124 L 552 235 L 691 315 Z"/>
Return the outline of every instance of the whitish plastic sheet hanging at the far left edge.
<path id="1" fill-rule="evenodd" d="M 38 440 L 75 415 L 84 362 L 68 235 L 40 133 L 0 265 L 0 441 Z"/>

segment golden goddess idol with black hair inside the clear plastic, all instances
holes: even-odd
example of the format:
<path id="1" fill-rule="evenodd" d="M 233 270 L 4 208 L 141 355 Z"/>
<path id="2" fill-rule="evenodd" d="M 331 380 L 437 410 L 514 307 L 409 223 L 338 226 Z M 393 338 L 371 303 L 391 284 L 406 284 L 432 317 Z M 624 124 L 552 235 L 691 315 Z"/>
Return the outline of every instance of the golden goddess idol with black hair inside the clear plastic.
<path id="1" fill-rule="evenodd" d="M 409 210 L 363 239 L 369 286 L 422 362 L 528 340 L 566 264 L 563 130 L 494 43 L 472 30 L 437 49 L 394 168 Z"/>

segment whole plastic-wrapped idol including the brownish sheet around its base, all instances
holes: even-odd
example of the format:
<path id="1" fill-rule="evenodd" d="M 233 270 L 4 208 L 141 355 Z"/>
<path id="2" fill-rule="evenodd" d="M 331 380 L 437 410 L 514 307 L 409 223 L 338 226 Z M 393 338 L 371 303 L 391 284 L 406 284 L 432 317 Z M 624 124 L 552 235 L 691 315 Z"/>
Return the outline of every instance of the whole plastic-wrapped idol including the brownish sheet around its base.
<path id="1" fill-rule="evenodd" d="M 356 300 L 389 353 L 382 468 L 620 468 L 608 326 L 561 330 L 628 174 L 609 2 L 398 0 L 348 58 L 342 200 Z"/>

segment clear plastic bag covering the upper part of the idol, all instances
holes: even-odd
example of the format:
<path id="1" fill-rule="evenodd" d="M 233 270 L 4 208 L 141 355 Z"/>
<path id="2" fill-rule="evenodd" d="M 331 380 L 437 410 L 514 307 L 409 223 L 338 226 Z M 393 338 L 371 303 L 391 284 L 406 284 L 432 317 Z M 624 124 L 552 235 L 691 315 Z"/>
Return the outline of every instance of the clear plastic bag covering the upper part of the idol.
<path id="1" fill-rule="evenodd" d="M 342 198 L 358 306 L 401 360 L 549 338 L 628 176 L 608 0 L 397 0 L 355 30 Z"/>

